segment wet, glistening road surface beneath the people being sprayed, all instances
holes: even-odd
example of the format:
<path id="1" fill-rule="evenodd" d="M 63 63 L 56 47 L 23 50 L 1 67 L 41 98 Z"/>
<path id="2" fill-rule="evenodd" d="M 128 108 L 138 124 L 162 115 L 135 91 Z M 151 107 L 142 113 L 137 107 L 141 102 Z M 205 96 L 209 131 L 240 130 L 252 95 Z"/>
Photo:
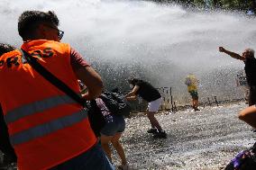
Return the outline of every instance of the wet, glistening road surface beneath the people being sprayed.
<path id="1" fill-rule="evenodd" d="M 153 139 L 146 116 L 126 119 L 123 148 L 131 169 L 223 169 L 242 149 L 253 145 L 251 127 L 237 114 L 247 105 L 237 103 L 201 108 L 200 112 L 163 112 L 156 117 L 167 139 Z M 118 157 L 114 153 L 114 164 Z"/>

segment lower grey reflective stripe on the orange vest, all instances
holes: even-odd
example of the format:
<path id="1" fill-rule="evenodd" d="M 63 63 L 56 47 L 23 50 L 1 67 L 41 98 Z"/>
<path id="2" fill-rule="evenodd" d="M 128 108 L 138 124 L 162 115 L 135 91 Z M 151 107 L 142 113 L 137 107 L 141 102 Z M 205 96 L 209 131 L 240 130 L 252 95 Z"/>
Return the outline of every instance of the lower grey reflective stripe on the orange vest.
<path id="1" fill-rule="evenodd" d="M 83 109 L 80 112 L 75 112 L 69 116 L 65 116 L 57 120 L 41 124 L 29 130 L 23 130 L 19 133 L 11 135 L 10 140 L 13 145 L 21 144 L 23 142 L 50 134 L 56 130 L 63 129 L 79 121 L 83 121 L 86 118 L 87 110 Z"/>

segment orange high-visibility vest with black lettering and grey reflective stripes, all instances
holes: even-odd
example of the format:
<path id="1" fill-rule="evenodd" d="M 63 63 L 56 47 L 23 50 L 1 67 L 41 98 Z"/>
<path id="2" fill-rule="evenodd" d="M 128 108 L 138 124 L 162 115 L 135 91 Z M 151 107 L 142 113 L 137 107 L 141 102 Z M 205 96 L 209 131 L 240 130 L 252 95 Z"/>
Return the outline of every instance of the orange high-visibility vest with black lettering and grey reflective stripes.
<path id="1" fill-rule="evenodd" d="M 22 49 L 79 93 L 68 44 L 32 40 Z M 19 50 L 0 58 L 0 79 L 0 103 L 20 170 L 57 166 L 96 144 L 87 110 L 33 70 Z"/>

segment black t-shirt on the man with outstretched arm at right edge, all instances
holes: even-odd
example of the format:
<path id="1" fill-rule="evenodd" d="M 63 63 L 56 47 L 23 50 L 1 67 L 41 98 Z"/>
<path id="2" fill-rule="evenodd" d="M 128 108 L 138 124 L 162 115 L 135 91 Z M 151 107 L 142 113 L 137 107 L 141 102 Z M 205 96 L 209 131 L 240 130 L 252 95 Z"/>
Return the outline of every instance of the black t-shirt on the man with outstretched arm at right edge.
<path id="1" fill-rule="evenodd" d="M 248 85 L 256 85 L 256 58 L 246 58 L 244 64 Z"/>

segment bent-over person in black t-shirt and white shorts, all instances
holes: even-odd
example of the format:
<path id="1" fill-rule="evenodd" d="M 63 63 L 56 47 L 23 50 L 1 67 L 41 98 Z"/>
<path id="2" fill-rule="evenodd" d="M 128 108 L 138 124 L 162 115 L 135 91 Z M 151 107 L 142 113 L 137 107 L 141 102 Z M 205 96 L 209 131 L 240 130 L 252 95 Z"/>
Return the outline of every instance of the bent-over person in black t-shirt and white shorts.
<path id="1" fill-rule="evenodd" d="M 154 114 L 158 112 L 160 103 L 162 102 L 161 95 L 150 83 L 137 78 L 128 79 L 130 87 L 133 89 L 130 93 L 126 94 L 126 99 L 135 100 L 138 95 L 143 100 L 147 101 L 148 109 L 147 116 L 151 122 L 151 129 L 148 133 L 152 133 L 154 138 L 167 138 L 165 130 L 160 127 L 159 121 L 155 118 Z"/>

